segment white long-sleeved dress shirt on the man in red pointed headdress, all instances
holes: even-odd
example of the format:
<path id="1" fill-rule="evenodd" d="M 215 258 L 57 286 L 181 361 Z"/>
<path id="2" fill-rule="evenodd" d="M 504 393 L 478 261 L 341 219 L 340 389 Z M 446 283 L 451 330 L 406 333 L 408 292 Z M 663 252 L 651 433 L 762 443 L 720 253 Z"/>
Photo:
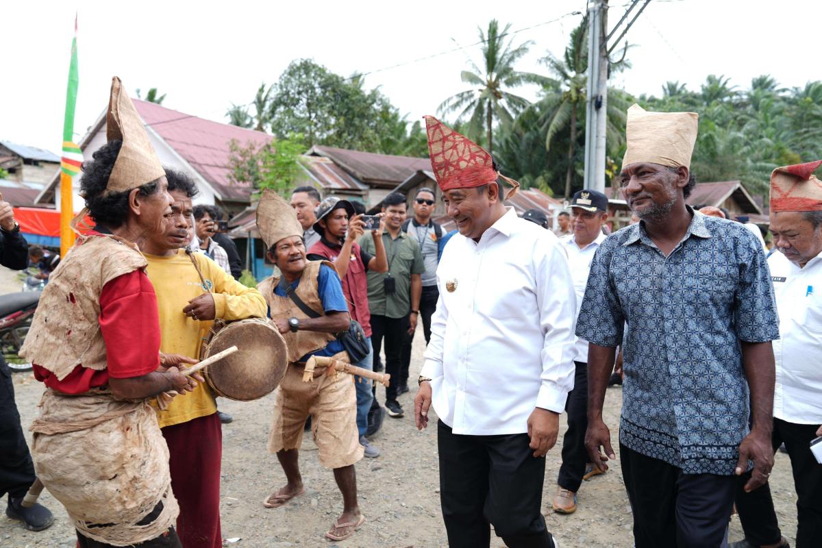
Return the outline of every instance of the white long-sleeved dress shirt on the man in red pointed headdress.
<path id="1" fill-rule="evenodd" d="M 550 231 L 506 210 L 479 243 L 455 234 L 436 269 L 440 298 L 420 374 L 455 434 L 527 432 L 534 408 L 562 412 L 574 388 L 565 252 Z"/>

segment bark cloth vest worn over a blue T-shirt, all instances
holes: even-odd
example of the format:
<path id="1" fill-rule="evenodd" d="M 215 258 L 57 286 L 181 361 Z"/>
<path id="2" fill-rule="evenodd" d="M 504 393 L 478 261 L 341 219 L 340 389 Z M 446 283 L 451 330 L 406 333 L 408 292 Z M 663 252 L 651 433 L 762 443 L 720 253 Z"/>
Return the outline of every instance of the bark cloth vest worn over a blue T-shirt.
<path id="1" fill-rule="evenodd" d="M 320 276 L 321 265 L 330 266 L 334 269 L 334 264 L 327 260 L 309 260 L 306 263 L 306 268 L 302 270 L 300 275 L 300 283 L 295 292 L 300 297 L 302 302 L 306 303 L 309 308 L 316 311 L 320 315 L 326 315 L 323 310 L 322 301 L 320 299 L 319 283 L 317 279 Z M 337 270 L 334 269 L 336 272 Z M 307 320 L 308 315 L 301 311 L 297 305 L 289 297 L 280 297 L 275 295 L 274 289 L 279 284 L 279 278 L 269 276 L 257 285 L 257 289 L 266 297 L 266 302 L 270 309 L 270 315 L 273 320 L 280 318 L 297 318 L 298 320 Z M 315 352 L 326 348 L 326 345 L 333 341 L 336 336 L 333 333 L 319 333 L 317 331 L 303 331 L 299 330 L 297 333 L 283 334 L 285 344 L 289 348 L 289 361 L 298 361 L 301 357 L 309 352 Z"/>

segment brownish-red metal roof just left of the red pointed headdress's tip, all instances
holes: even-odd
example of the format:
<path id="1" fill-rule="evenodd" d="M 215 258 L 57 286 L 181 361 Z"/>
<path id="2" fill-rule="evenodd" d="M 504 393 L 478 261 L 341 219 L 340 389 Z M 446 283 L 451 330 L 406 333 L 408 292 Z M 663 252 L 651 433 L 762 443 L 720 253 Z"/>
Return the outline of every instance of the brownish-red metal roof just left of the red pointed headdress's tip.
<path id="1" fill-rule="evenodd" d="M 316 145 L 307 154 L 325 156 L 366 184 L 395 187 L 418 170 L 431 169 L 427 158 L 392 156 Z"/>

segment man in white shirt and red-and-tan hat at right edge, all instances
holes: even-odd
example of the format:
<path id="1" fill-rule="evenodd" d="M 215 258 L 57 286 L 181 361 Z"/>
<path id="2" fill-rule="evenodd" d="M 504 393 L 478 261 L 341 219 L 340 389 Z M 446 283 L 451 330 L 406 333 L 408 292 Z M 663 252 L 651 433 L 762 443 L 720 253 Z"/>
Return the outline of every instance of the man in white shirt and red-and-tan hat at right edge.
<path id="1" fill-rule="evenodd" d="M 770 229 L 779 253 L 768 259 L 779 311 L 774 341 L 774 451 L 785 444 L 797 490 L 797 548 L 822 543 L 822 464 L 810 440 L 822 435 L 822 160 L 776 168 L 771 174 Z M 735 548 L 787 546 L 767 483 L 746 493 L 737 511 L 745 540 Z"/>

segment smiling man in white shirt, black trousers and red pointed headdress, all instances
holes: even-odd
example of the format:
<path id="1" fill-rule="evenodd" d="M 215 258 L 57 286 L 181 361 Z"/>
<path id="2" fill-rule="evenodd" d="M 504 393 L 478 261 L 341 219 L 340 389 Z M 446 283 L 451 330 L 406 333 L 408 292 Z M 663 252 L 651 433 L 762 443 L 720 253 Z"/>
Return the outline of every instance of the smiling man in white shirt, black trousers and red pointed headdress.
<path id="1" fill-rule="evenodd" d="M 433 172 L 459 230 L 414 398 L 433 405 L 450 548 L 555 548 L 541 513 L 545 455 L 573 388 L 575 294 L 556 237 L 503 205 L 490 154 L 426 117 Z M 509 192 L 508 196 L 513 193 Z"/>

